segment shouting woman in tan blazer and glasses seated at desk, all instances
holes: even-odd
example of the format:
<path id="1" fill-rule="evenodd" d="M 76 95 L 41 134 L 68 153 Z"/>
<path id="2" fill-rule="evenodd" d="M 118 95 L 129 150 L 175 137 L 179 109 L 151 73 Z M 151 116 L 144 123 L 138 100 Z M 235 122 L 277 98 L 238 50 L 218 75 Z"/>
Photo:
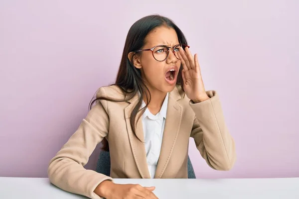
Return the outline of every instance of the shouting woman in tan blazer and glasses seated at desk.
<path id="1" fill-rule="evenodd" d="M 95 102 L 95 105 L 93 105 Z M 57 187 L 92 199 L 156 199 L 154 187 L 113 178 L 187 178 L 189 137 L 207 164 L 230 170 L 236 154 L 219 97 L 205 91 L 197 55 L 168 18 L 149 15 L 128 32 L 116 83 L 102 87 L 77 131 L 50 161 Z M 102 142 L 105 176 L 83 166 Z"/>

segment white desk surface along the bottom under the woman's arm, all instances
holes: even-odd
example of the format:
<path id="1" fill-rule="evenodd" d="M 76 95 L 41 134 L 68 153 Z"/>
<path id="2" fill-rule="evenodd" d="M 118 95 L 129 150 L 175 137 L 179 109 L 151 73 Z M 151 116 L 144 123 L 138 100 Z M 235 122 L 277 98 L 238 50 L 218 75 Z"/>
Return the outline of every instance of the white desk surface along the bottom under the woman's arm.
<path id="1" fill-rule="evenodd" d="M 299 199 L 299 178 L 115 179 L 155 186 L 159 199 Z M 86 199 L 58 189 L 47 178 L 0 177 L 0 199 Z"/>

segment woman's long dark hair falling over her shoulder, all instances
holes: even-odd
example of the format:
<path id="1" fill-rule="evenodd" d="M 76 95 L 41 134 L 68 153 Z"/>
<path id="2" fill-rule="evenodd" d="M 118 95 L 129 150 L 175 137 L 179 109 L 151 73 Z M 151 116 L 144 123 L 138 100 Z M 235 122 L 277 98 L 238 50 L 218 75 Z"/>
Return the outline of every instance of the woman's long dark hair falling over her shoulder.
<path id="1" fill-rule="evenodd" d="M 109 101 L 127 101 L 131 100 L 135 95 L 140 92 L 140 99 L 138 100 L 137 105 L 134 107 L 131 116 L 130 116 L 130 124 L 131 128 L 133 130 L 133 133 L 135 137 L 139 139 L 139 137 L 136 135 L 136 116 L 138 111 L 145 111 L 146 108 L 148 107 L 148 103 L 150 101 L 150 93 L 149 89 L 147 88 L 144 80 L 141 77 L 141 71 L 140 69 L 137 69 L 133 63 L 130 60 L 133 60 L 134 56 L 138 55 L 138 53 L 132 54 L 131 59 L 128 58 L 128 55 L 130 52 L 133 52 L 135 50 L 142 49 L 142 47 L 145 45 L 145 38 L 149 34 L 150 31 L 152 31 L 154 28 L 160 27 L 160 26 L 166 26 L 169 28 L 173 28 L 177 34 L 178 41 L 181 44 L 187 44 L 186 38 L 182 31 L 174 24 L 174 22 L 164 16 L 161 15 L 148 15 L 145 16 L 138 21 L 136 21 L 130 28 L 127 38 L 126 38 L 126 43 L 123 51 L 123 56 L 121 60 L 121 64 L 119 67 L 119 71 L 117 74 L 117 78 L 115 81 L 115 84 L 118 86 L 123 93 L 125 94 L 125 99 L 124 100 L 116 100 L 116 99 L 111 99 L 107 97 L 98 97 L 98 98 L 93 98 L 90 103 L 89 103 L 89 108 L 92 108 L 92 105 L 95 101 L 97 100 L 109 100 Z M 140 53 L 140 52 L 139 52 Z M 182 90 L 184 91 L 183 88 L 183 79 L 182 79 L 182 66 L 179 69 L 178 76 L 177 76 L 177 81 L 176 84 L 180 85 Z M 112 86 L 110 85 L 110 86 Z M 149 96 L 147 96 L 147 93 L 149 93 Z M 139 110 L 140 106 L 142 105 L 143 102 L 143 96 L 146 94 L 147 102 L 146 106 Z M 128 96 L 128 98 L 126 98 Z M 140 116 L 139 118 L 140 119 Z M 103 139 L 102 141 L 102 149 L 105 151 L 109 151 L 109 145 L 108 141 L 106 138 Z"/>

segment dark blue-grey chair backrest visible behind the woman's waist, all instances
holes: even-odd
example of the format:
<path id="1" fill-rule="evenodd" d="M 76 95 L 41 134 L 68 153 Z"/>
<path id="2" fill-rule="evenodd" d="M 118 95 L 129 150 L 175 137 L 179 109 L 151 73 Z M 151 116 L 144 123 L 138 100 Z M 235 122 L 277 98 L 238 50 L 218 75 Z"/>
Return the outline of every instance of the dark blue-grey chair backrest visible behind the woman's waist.
<path id="1" fill-rule="evenodd" d="M 104 174 L 106 176 L 110 176 L 110 167 L 111 167 L 111 163 L 110 163 L 109 151 L 101 151 L 97 162 L 96 172 Z M 188 167 L 188 179 L 196 178 L 189 156 L 188 156 L 187 167 Z"/>

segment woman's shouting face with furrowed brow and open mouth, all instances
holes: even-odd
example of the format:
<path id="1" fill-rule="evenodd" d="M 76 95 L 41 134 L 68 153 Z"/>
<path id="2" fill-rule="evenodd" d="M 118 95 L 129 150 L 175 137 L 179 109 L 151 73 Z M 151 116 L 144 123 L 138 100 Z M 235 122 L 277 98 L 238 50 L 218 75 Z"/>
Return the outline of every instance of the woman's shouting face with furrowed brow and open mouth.
<path id="1" fill-rule="evenodd" d="M 152 30 L 146 37 L 145 46 L 142 49 L 149 49 L 157 45 L 174 47 L 179 44 L 176 32 L 172 28 L 158 27 Z M 177 50 L 177 49 L 175 49 Z M 155 57 L 163 57 L 162 48 L 155 48 Z M 139 68 L 142 78 L 145 80 L 150 91 L 171 92 L 176 84 L 180 60 L 173 54 L 173 48 L 169 49 L 169 55 L 164 61 L 157 61 L 151 51 L 143 51 L 134 60 L 134 65 Z"/>

